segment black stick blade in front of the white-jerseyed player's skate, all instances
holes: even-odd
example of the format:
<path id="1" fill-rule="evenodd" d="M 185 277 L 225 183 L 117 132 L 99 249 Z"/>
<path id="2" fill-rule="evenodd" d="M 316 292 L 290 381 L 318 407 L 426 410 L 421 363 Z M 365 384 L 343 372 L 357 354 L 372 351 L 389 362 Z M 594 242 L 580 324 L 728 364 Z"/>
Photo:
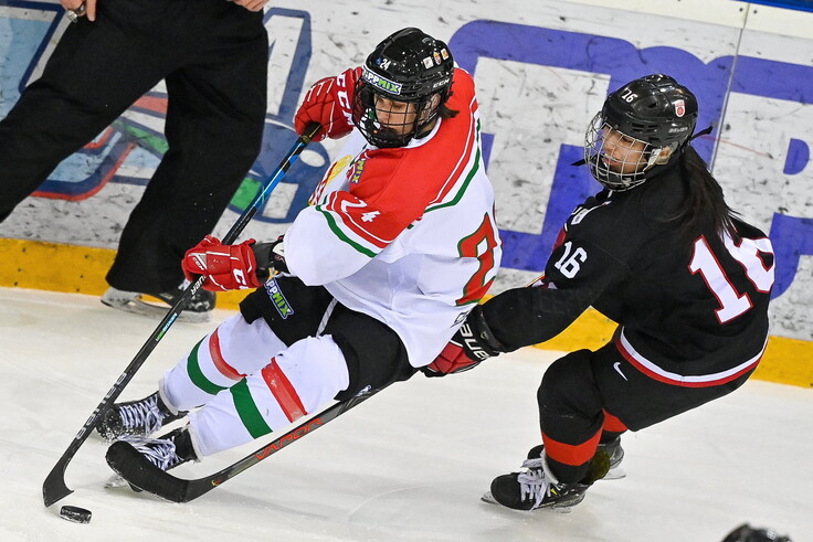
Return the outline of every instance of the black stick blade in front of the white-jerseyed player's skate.
<path id="1" fill-rule="evenodd" d="M 125 442 L 110 445 L 107 465 L 133 486 L 172 502 L 187 502 L 189 480 L 176 478 L 159 469 Z"/>

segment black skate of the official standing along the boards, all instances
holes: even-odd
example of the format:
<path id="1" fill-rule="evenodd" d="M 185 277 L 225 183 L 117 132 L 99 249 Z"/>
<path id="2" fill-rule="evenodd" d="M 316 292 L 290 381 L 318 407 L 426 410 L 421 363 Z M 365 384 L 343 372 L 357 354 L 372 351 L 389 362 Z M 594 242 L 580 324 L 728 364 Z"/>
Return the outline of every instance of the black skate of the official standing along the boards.
<path id="1" fill-rule="evenodd" d="M 125 291 L 109 287 L 102 296 L 102 302 L 108 307 L 124 310 L 126 312 L 160 318 L 167 313 L 167 310 L 169 310 L 169 308 L 172 307 L 178 298 L 183 294 L 186 285 L 187 283 L 183 283 L 170 291 L 162 293 Z M 214 308 L 214 293 L 200 288 L 194 293 L 192 298 L 183 308 L 183 311 L 178 315 L 178 321 L 192 323 L 209 321 L 212 315 L 212 309 Z"/>

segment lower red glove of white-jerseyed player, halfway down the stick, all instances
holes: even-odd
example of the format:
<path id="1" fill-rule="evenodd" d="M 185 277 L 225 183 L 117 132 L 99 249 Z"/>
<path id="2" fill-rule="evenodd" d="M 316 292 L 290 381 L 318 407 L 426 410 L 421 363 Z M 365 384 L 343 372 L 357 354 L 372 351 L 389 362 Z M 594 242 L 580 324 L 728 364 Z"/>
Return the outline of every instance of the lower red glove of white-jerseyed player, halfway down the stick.
<path id="1" fill-rule="evenodd" d="M 239 245 L 224 245 L 207 235 L 197 246 L 187 251 L 181 267 L 187 279 L 193 281 L 203 275 L 203 289 L 211 291 L 257 288 L 257 263 L 252 251 L 254 240 Z"/>

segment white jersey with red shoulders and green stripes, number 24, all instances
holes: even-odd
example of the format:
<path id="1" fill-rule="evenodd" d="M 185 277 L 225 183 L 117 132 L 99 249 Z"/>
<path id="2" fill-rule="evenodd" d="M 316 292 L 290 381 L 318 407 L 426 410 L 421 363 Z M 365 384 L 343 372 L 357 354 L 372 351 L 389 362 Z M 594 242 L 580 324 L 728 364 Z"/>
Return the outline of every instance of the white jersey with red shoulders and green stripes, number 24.
<path id="1" fill-rule="evenodd" d="M 291 273 L 387 323 L 413 366 L 446 346 L 501 256 L 474 82 L 463 70 L 447 106 L 460 113 L 406 147 L 379 149 L 353 130 L 285 234 Z"/>

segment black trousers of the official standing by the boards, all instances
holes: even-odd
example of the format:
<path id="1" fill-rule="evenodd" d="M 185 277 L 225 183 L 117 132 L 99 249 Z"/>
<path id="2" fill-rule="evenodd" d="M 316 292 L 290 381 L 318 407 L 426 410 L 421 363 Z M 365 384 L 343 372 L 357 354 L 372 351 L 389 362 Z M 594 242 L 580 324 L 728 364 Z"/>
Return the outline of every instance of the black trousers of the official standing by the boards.
<path id="1" fill-rule="evenodd" d="M 180 284 L 260 151 L 268 39 L 263 13 L 226 0 L 104 0 L 70 24 L 44 73 L 0 121 L 0 222 L 56 166 L 166 79 L 169 150 L 122 233 L 107 281 Z M 49 220 L 43 216 L 42 220 Z"/>

